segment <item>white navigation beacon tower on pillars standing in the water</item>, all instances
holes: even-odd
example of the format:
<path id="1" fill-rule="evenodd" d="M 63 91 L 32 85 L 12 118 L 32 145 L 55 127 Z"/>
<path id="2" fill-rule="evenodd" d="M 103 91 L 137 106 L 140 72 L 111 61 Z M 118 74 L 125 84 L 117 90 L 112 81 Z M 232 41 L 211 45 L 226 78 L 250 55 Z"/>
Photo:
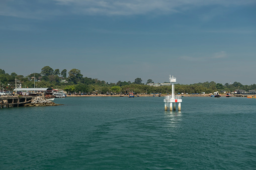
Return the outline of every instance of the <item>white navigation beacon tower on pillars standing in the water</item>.
<path id="1" fill-rule="evenodd" d="M 170 110 L 173 111 L 176 110 L 176 103 L 178 104 L 178 110 L 181 111 L 181 102 L 182 102 L 182 96 L 175 95 L 175 85 L 176 78 L 171 77 L 169 75 L 169 82 L 172 84 L 172 95 L 164 96 L 163 102 L 164 102 L 164 110 Z"/>

